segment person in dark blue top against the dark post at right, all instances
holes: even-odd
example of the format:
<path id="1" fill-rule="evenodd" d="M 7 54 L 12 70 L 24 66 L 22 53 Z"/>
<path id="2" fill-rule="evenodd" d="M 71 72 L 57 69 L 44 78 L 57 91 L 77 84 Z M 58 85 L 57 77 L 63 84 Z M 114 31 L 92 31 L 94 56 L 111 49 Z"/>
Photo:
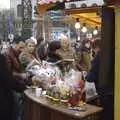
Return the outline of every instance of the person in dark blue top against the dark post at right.
<path id="1" fill-rule="evenodd" d="M 99 80 L 99 67 L 100 67 L 100 41 L 99 39 L 95 40 L 92 44 L 92 49 L 94 51 L 94 58 L 92 60 L 92 66 L 90 71 L 86 76 L 88 82 L 94 82 L 96 89 L 98 89 L 98 80 Z"/>

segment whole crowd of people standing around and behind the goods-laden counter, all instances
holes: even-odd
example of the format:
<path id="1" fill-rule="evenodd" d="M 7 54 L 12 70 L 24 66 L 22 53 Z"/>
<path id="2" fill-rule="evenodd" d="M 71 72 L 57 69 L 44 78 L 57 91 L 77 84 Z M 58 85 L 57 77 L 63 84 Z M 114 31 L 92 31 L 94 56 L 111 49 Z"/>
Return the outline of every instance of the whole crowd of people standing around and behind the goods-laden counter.
<path id="1" fill-rule="evenodd" d="M 30 64 L 40 64 L 43 60 L 57 62 L 62 59 L 74 59 L 71 67 L 85 71 L 87 75 L 84 79 L 95 82 L 96 87 L 98 85 L 100 39 L 94 42 L 84 40 L 74 48 L 66 36 L 60 41 L 40 44 L 36 44 L 31 38 L 26 41 L 15 39 L 12 43 L 7 42 L 1 46 L 0 117 L 4 120 L 22 120 L 22 113 L 19 114 L 21 109 L 19 100 L 21 98 L 23 100 L 26 86 L 32 84 L 33 76 L 26 72 Z"/>

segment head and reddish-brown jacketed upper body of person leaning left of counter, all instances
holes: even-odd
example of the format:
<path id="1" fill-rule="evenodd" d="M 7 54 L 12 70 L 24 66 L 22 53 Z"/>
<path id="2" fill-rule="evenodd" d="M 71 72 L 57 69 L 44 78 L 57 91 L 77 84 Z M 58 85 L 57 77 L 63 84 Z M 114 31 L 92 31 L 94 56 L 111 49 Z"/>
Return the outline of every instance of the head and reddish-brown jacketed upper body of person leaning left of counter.
<path id="1" fill-rule="evenodd" d="M 13 44 L 7 48 L 5 52 L 5 57 L 9 66 L 9 69 L 13 72 L 16 80 L 22 80 L 23 82 L 27 79 L 27 73 L 22 70 L 22 66 L 18 59 L 20 53 L 25 49 L 25 43 L 23 41 L 14 40 Z"/>

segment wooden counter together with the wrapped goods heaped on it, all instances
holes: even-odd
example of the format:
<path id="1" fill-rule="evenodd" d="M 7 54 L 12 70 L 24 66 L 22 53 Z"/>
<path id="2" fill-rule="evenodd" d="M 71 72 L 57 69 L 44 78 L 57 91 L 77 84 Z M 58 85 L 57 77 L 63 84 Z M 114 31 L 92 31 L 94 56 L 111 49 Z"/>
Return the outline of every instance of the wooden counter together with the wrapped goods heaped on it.
<path id="1" fill-rule="evenodd" d="M 26 67 L 35 77 L 33 86 L 25 91 L 25 120 L 99 119 L 102 108 L 87 104 L 87 89 L 81 72 L 70 67 L 73 62 L 63 59 L 39 64 L 34 60 Z M 64 67 L 59 69 L 57 64 Z"/>

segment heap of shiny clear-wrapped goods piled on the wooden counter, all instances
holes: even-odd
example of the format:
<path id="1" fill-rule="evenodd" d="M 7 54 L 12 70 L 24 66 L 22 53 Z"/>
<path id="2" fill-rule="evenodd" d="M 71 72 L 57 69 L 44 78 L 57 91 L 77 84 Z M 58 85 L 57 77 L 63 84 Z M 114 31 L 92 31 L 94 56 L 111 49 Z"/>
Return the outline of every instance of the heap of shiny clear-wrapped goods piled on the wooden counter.
<path id="1" fill-rule="evenodd" d="M 51 102 L 75 106 L 85 101 L 85 82 L 81 72 L 71 68 L 62 74 L 56 64 L 46 61 L 28 71 L 34 75 L 34 85 L 45 90 L 45 96 Z"/>

